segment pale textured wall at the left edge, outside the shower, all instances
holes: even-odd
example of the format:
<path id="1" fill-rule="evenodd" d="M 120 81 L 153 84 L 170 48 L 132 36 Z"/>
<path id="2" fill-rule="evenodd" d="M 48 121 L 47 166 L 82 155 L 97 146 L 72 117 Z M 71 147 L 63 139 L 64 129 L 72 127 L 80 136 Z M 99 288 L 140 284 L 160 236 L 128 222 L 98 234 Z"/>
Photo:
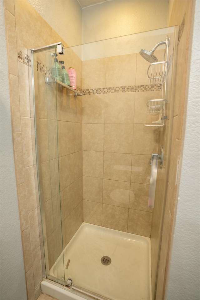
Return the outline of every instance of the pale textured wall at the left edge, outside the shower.
<path id="1" fill-rule="evenodd" d="M 3 2 L 1 7 L 1 298 L 22 300 L 26 282 L 12 147 Z"/>

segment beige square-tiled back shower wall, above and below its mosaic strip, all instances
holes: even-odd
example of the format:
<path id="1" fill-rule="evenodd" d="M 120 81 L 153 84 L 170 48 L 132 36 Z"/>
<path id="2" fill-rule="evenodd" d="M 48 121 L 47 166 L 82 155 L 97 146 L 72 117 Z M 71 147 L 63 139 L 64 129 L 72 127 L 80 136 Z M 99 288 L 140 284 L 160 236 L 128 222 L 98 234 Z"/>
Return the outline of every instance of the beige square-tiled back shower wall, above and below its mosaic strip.
<path id="1" fill-rule="evenodd" d="M 148 65 L 139 54 L 83 61 L 83 89 L 147 84 Z M 144 124 L 158 119 L 146 113 L 157 98 L 161 92 L 83 96 L 85 222 L 150 237 L 149 161 L 159 130 Z"/>

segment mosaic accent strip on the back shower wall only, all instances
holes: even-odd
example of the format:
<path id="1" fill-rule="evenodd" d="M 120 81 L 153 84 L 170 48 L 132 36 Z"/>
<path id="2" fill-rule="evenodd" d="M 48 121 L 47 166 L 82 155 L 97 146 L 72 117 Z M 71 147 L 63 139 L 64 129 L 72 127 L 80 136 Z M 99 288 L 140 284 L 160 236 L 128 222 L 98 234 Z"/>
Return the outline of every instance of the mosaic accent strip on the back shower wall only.
<path id="1" fill-rule="evenodd" d="M 83 95 L 98 95 L 98 94 L 114 94 L 114 93 L 140 93 L 140 92 L 154 92 L 161 91 L 162 84 L 144 84 L 144 85 L 130 85 L 113 88 L 89 88 L 83 90 Z"/>

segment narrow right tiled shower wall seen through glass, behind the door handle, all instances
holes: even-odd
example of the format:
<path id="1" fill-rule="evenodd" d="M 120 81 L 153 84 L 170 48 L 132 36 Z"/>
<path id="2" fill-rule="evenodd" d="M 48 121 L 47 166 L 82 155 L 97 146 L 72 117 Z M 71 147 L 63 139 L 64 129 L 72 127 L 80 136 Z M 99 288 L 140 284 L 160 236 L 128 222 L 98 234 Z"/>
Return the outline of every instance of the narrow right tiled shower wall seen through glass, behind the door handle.
<path id="1" fill-rule="evenodd" d="M 160 130 L 159 149 L 164 148 L 163 167 L 158 169 L 156 186 L 156 205 L 152 216 L 151 231 L 151 255 L 152 255 L 152 294 L 155 297 L 157 287 L 158 262 L 160 258 L 160 245 L 163 230 L 163 217 L 165 210 L 166 191 L 168 185 L 168 168 L 170 158 L 170 148 L 172 139 L 173 125 L 173 103 L 174 103 L 174 78 L 176 72 L 177 45 L 178 45 L 178 26 L 166 28 L 169 40 L 168 70 L 166 77 L 166 110 L 165 126 Z M 173 29 L 173 32 L 171 32 Z M 164 85 L 165 88 L 165 85 Z M 160 153 L 159 153 L 160 154 Z"/>

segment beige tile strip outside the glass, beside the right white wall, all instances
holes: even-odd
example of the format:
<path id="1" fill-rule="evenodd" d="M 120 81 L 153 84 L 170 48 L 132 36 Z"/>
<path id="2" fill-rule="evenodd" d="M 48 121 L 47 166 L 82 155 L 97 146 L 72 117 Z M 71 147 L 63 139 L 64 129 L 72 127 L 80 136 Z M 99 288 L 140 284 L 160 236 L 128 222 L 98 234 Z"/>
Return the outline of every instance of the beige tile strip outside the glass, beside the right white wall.
<path id="1" fill-rule="evenodd" d="M 185 25 L 183 35 L 178 44 L 177 55 L 177 71 L 175 78 L 175 98 L 174 98 L 174 111 L 173 111 L 173 132 L 172 132 L 172 145 L 170 152 L 169 174 L 166 207 L 164 212 L 164 223 L 162 232 L 162 243 L 160 250 L 160 260 L 158 266 L 158 282 L 156 290 L 156 299 L 164 299 L 165 284 L 168 273 L 168 259 L 173 227 L 174 209 L 177 203 L 177 190 L 178 181 L 177 174 L 180 163 L 180 148 L 182 142 L 183 132 L 183 112 L 185 106 L 185 87 L 186 87 L 186 74 L 187 74 L 187 56 L 189 33 L 191 24 L 192 5 L 194 1 L 173 1 L 173 8 L 171 17 L 169 17 L 168 25 L 179 25 L 181 27 L 184 15 Z"/>

